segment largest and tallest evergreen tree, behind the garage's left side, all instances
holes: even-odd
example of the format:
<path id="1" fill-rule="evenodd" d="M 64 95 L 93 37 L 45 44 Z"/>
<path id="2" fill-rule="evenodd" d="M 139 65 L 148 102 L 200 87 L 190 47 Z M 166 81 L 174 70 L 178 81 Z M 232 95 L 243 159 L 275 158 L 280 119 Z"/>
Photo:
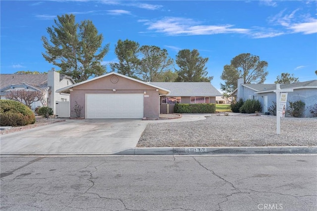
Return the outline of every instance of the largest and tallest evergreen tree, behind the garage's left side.
<path id="1" fill-rule="evenodd" d="M 106 73 L 101 62 L 109 44 L 102 46 L 104 37 L 92 21 L 78 24 L 73 14 L 65 14 L 57 16 L 54 23 L 55 26 L 47 28 L 50 39 L 42 37 L 45 60 L 60 67 L 61 74 L 71 76 L 77 83 Z"/>

